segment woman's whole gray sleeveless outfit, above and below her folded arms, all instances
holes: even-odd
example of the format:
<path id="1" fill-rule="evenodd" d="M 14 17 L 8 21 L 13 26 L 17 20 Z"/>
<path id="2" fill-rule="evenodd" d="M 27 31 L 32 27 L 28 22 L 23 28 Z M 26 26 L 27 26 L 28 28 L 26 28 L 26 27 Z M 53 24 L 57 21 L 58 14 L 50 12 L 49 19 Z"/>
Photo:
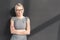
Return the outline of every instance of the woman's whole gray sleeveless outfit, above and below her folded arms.
<path id="1" fill-rule="evenodd" d="M 27 17 L 24 17 L 22 19 L 18 19 L 17 17 L 12 17 L 12 20 L 14 21 L 15 29 L 26 29 Z M 13 34 L 10 40 L 27 40 L 27 35 Z"/>

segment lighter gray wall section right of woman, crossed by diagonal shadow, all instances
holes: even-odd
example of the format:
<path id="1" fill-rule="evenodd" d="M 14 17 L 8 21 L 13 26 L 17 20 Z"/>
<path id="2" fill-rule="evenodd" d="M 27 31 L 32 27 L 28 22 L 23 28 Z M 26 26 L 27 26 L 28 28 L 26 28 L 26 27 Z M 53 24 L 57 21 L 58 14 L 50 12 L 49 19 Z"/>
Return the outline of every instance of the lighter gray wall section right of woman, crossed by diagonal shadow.
<path id="1" fill-rule="evenodd" d="M 32 34 L 29 40 L 60 40 L 59 2 L 59 0 L 30 0 Z"/>

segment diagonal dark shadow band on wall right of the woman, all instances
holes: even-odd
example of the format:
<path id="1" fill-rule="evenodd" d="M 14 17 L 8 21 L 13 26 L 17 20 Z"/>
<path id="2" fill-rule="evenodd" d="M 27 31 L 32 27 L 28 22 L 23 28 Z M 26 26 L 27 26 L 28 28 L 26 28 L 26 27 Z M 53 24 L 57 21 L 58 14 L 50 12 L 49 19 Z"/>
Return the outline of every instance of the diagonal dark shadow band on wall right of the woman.
<path id="1" fill-rule="evenodd" d="M 41 30 L 45 29 L 46 27 L 52 25 L 53 23 L 57 22 L 60 20 L 60 14 L 55 16 L 54 18 L 46 21 L 45 23 L 43 23 L 42 25 L 37 26 L 35 29 L 31 30 L 31 34 L 28 35 L 28 38 L 35 35 L 36 33 L 40 32 Z M 60 32 L 59 32 L 60 35 Z M 59 36 L 60 37 L 60 36 Z M 60 39 L 59 39 L 60 40 Z"/>

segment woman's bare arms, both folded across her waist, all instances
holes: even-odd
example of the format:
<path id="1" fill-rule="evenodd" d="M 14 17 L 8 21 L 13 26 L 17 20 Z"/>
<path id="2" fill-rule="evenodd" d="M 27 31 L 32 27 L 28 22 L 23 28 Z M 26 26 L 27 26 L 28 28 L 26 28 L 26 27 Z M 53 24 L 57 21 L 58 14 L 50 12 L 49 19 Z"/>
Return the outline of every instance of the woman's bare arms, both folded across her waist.
<path id="1" fill-rule="evenodd" d="M 22 34 L 22 35 L 27 35 L 30 34 L 30 19 L 27 20 L 27 24 L 26 24 L 27 29 L 22 29 L 22 30 L 16 30 L 14 28 L 14 21 L 11 19 L 10 20 L 10 30 L 11 30 L 11 34 Z"/>

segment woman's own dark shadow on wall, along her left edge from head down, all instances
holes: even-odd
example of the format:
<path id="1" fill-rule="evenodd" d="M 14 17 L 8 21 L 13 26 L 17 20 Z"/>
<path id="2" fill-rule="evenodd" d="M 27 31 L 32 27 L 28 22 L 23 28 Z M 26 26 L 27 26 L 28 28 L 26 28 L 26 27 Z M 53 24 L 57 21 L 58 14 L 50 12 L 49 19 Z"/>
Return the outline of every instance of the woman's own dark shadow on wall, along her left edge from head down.
<path id="1" fill-rule="evenodd" d="M 13 17 L 13 16 L 16 16 L 16 14 L 15 14 L 15 11 L 14 11 L 14 7 L 10 10 L 10 17 L 9 17 L 9 19 L 8 19 L 8 21 L 7 21 L 7 24 L 6 24 L 6 29 L 5 29 L 5 31 L 4 31 L 4 35 L 6 35 L 6 37 L 8 38 L 7 40 L 10 40 L 10 38 L 11 38 L 11 33 L 10 33 L 10 19 L 11 19 L 11 17 Z"/>

